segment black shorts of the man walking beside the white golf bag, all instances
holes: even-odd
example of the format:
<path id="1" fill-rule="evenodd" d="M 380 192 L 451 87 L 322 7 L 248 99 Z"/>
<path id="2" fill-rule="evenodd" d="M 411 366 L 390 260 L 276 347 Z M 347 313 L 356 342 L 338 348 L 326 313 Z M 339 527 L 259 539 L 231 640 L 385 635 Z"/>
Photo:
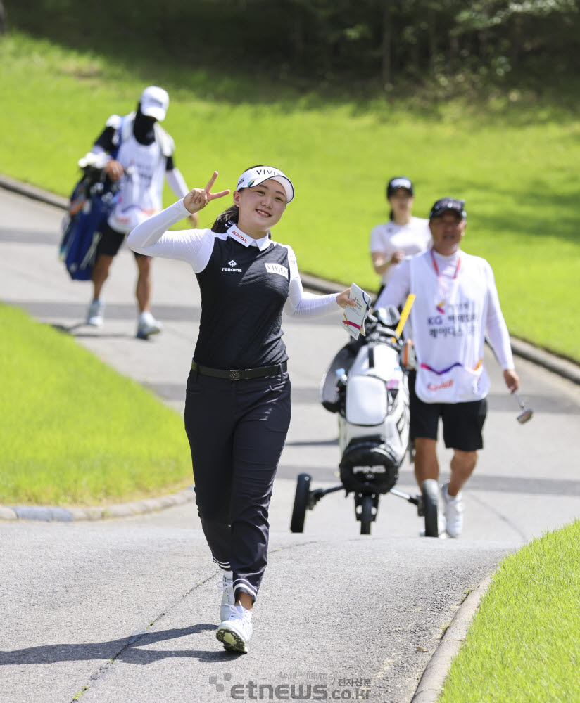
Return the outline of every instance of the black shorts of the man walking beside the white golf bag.
<path id="1" fill-rule="evenodd" d="M 481 436 L 487 414 L 486 399 L 469 403 L 424 403 L 415 393 L 415 373 L 409 375 L 410 435 L 437 439 L 439 418 L 443 420 L 443 441 L 448 449 L 483 449 Z"/>

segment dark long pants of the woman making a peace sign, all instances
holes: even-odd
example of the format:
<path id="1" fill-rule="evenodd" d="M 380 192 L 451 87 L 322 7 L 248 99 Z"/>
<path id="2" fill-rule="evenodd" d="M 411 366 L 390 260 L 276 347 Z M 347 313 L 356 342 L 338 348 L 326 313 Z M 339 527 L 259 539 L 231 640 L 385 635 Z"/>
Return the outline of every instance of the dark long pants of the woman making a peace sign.
<path id="1" fill-rule="evenodd" d="M 268 508 L 290 424 L 287 373 L 230 381 L 191 370 L 185 430 L 198 515 L 234 593 L 256 600 L 267 562 Z"/>

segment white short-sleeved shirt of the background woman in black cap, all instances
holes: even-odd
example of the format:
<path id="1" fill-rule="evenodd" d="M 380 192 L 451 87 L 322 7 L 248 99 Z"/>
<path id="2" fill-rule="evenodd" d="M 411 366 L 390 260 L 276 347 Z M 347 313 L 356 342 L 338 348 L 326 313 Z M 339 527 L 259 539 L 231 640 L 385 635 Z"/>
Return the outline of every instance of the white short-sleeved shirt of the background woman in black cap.
<path id="1" fill-rule="evenodd" d="M 393 254 L 402 250 L 405 257 L 424 252 L 431 246 L 431 230 L 429 220 L 422 217 L 412 217 L 407 224 L 396 224 L 392 220 L 374 227 L 370 233 L 370 252 L 384 254 L 390 259 Z M 396 266 L 389 266 L 383 273 L 381 283 L 391 280 Z"/>

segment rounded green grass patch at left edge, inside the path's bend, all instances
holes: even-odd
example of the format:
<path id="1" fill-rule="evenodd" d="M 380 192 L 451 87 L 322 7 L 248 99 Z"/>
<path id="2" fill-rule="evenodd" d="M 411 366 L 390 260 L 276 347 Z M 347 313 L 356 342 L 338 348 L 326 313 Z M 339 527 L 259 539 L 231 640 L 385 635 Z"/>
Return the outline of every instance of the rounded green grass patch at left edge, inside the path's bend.
<path id="1" fill-rule="evenodd" d="M 0 505 L 96 505 L 191 485 L 177 413 L 18 308 L 0 304 L 0 327 Z"/>

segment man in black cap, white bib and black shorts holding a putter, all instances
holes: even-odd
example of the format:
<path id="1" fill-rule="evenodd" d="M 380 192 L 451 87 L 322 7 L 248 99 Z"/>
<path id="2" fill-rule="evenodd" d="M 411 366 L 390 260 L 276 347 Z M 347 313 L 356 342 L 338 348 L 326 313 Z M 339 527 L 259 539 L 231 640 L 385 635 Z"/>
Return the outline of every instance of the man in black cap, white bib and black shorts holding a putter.
<path id="1" fill-rule="evenodd" d="M 450 480 L 441 487 L 450 537 L 462 531 L 460 490 L 483 447 L 490 386 L 483 365 L 486 333 L 508 389 L 519 387 L 491 266 L 460 249 L 466 224 L 464 200 L 437 200 L 429 213 L 433 247 L 401 262 L 375 304 L 400 306 L 409 293 L 417 296 L 410 313 L 417 371 L 409 377 L 415 478 L 419 486 L 425 479 L 439 479 L 436 439 L 441 418 L 445 446 L 453 449 Z"/>

